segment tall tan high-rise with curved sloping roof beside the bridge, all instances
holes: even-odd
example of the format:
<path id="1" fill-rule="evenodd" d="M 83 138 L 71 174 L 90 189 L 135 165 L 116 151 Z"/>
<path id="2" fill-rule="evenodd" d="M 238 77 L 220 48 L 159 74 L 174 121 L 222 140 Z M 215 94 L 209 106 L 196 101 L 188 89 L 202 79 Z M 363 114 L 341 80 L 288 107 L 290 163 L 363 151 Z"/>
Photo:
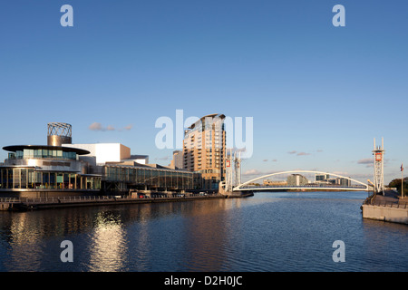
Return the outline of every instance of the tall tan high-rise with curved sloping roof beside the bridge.
<path id="1" fill-rule="evenodd" d="M 203 189 L 219 189 L 225 177 L 225 115 L 210 114 L 184 132 L 183 168 L 201 173 Z"/>

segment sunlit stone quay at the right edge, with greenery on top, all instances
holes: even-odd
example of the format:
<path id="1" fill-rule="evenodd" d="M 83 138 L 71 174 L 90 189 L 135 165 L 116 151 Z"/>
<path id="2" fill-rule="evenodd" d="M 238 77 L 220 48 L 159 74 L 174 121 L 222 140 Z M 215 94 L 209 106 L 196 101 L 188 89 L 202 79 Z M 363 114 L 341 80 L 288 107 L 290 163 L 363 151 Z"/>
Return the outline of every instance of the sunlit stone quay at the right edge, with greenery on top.
<path id="1" fill-rule="evenodd" d="M 366 198 L 361 208 L 363 218 L 408 225 L 408 199 L 399 198 L 393 191 Z"/>

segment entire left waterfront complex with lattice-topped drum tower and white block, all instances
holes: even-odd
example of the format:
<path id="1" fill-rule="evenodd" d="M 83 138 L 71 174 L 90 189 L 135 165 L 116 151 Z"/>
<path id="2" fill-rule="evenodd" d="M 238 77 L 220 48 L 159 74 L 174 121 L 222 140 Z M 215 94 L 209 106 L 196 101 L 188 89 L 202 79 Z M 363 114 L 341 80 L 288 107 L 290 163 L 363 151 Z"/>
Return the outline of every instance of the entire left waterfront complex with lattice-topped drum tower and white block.
<path id="1" fill-rule="evenodd" d="M 95 144 L 76 148 L 71 142 L 71 125 L 54 122 L 48 123 L 47 145 L 5 146 L 8 158 L 0 164 L 0 197 L 128 194 L 132 189 L 180 192 L 202 188 L 200 173 L 140 164 L 128 159 L 130 149 L 121 144 L 104 144 L 91 152 L 87 149 L 95 148 Z M 101 157 L 111 159 L 98 163 Z"/>

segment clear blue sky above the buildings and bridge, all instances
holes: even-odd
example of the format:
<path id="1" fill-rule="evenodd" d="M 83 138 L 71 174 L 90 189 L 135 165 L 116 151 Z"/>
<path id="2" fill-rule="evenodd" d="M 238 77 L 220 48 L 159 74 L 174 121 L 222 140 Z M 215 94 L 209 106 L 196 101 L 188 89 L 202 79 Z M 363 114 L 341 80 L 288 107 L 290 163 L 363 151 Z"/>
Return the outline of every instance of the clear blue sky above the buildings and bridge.
<path id="1" fill-rule="evenodd" d="M 73 27 L 60 24 L 65 4 Z M 337 4 L 345 27 L 332 24 Z M 62 121 L 74 143 L 121 142 L 167 165 L 155 121 L 219 112 L 253 117 L 246 179 L 316 169 L 365 180 L 384 137 L 388 182 L 408 165 L 407 16 L 403 0 L 6 1 L 0 146 L 44 144 L 47 123 Z"/>

